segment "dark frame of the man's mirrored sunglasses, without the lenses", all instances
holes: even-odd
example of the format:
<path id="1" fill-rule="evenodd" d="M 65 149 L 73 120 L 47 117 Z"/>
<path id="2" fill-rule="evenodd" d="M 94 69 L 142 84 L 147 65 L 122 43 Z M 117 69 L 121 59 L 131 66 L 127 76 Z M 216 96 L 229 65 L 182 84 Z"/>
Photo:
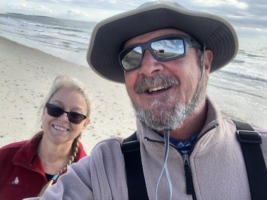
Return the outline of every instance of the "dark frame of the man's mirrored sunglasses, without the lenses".
<path id="1" fill-rule="evenodd" d="M 182 39 L 183 40 L 183 44 L 184 44 L 183 45 L 184 46 L 184 53 L 181 54 L 181 55 L 178 55 L 178 56 L 175 56 L 175 57 L 166 58 L 166 59 L 158 58 L 157 55 L 154 53 L 152 47 L 151 47 L 151 43 L 153 43 L 155 41 L 159 41 L 159 40 L 164 40 L 164 39 Z M 142 58 L 140 60 L 139 65 L 136 66 L 136 67 L 133 67 L 131 69 L 125 69 L 123 67 L 123 64 L 122 64 L 123 58 L 125 57 L 125 55 L 127 55 L 132 49 L 134 49 L 137 46 L 140 46 L 142 48 Z M 177 58 L 185 56 L 187 54 L 187 52 L 188 52 L 189 47 L 196 47 L 196 48 L 199 48 L 200 50 L 202 49 L 202 46 L 199 44 L 198 41 L 196 41 L 193 38 L 189 38 L 186 35 L 183 35 L 183 34 L 164 35 L 164 36 L 153 38 L 153 39 L 149 40 L 146 43 L 138 43 L 138 44 L 134 44 L 134 45 L 131 45 L 131 46 L 128 46 L 128 47 L 122 49 L 120 51 L 120 53 L 119 53 L 119 63 L 120 63 L 120 65 L 121 65 L 121 67 L 122 67 L 122 69 L 124 71 L 131 71 L 131 70 L 135 70 L 135 69 L 141 67 L 142 60 L 143 60 L 143 57 L 144 57 L 144 53 L 145 53 L 145 50 L 147 50 L 147 49 L 151 52 L 151 54 L 154 56 L 154 58 L 156 60 L 158 60 L 158 61 L 169 61 L 169 60 L 173 60 L 173 59 L 177 59 Z M 131 49 L 131 50 L 129 50 L 129 49 Z"/>

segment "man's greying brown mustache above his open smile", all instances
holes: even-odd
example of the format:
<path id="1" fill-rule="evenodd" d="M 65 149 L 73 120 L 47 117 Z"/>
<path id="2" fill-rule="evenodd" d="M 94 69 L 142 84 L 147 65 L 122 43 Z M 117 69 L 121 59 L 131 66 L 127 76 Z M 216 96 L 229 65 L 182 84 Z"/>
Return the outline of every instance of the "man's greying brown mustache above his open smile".
<path id="1" fill-rule="evenodd" d="M 134 91 L 136 93 L 142 93 L 151 87 L 171 87 L 178 85 L 180 85 L 180 80 L 178 77 L 167 74 L 156 74 L 153 77 L 144 76 L 138 83 L 134 85 Z"/>

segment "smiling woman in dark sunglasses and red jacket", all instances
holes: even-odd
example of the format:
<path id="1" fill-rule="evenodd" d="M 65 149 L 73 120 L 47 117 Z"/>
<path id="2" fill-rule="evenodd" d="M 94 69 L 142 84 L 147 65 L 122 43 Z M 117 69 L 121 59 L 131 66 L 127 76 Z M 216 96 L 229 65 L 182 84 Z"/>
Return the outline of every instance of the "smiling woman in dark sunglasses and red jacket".
<path id="1" fill-rule="evenodd" d="M 82 82 L 57 76 L 40 113 L 43 130 L 0 148 L 0 199 L 41 196 L 86 156 L 80 136 L 90 122 L 90 100 Z"/>

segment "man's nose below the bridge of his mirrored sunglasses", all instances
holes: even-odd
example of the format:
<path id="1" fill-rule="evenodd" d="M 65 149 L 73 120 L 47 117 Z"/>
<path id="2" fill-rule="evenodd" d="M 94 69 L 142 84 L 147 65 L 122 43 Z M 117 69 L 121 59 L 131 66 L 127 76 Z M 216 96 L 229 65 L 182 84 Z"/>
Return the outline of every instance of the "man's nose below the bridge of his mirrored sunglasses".
<path id="1" fill-rule="evenodd" d="M 142 59 L 142 65 L 139 69 L 139 74 L 144 74 L 149 77 L 163 70 L 164 66 L 161 62 L 155 59 L 150 50 L 146 49 Z"/>

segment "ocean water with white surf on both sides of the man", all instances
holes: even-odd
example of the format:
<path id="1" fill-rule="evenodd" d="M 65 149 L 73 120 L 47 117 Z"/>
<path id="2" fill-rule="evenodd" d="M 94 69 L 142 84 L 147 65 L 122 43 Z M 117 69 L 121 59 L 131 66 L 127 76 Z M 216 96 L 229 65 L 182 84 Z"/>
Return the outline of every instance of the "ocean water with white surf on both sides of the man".
<path id="1" fill-rule="evenodd" d="M 95 25 L 91 21 L 0 13 L 0 36 L 84 67 L 88 67 L 86 51 Z M 207 86 L 208 95 L 223 115 L 265 128 L 266 44 L 264 38 L 239 38 L 237 56 L 211 73 Z"/>

